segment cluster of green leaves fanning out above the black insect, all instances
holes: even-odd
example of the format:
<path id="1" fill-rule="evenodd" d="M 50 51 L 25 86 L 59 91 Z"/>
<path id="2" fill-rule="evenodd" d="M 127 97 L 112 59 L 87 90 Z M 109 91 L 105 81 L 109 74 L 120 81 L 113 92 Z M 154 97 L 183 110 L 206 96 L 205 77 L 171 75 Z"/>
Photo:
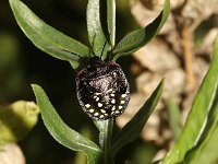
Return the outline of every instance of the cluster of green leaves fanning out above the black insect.
<path id="1" fill-rule="evenodd" d="M 20 0 L 9 0 L 16 22 L 33 44 L 43 51 L 61 60 L 66 60 L 73 69 L 83 66 L 83 58 L 101 56 L 117 60 L 130 55 L 147 44 L 165 24 L 169 14 L 169 0 L 165 1 L 162 12 L 146 27 L 126 35 L 118 45 L 116 43 L 116 3 L 114 0 L 89 0 L 87 4 L 87 31 L 92 48 L 70 38 L 36 16 Z M 106 7 L 105 11 L 100 7 Z M 105 9 L 105 8 L 104 8 Z M 106 19 L 105 19 L 105 17 Z M 113 49 L 113 47 L 116 47 Z"/>

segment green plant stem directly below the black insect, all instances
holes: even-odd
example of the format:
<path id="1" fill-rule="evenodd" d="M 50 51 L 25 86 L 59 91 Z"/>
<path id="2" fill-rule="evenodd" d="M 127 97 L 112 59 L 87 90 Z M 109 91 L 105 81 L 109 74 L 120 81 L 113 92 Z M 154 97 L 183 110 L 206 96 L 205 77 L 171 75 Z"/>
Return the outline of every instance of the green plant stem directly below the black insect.
<path id="1" fill-rule="evenodd" d="M 109 153 L 109 149 L 111 145 L 111 138 L 112 138 L 112 129 L 113 129 L 114 119 L 107 119 L 105 120 L 105 128 L 104 128 L 104 164 L 112 164 L 113 161 Z"/>

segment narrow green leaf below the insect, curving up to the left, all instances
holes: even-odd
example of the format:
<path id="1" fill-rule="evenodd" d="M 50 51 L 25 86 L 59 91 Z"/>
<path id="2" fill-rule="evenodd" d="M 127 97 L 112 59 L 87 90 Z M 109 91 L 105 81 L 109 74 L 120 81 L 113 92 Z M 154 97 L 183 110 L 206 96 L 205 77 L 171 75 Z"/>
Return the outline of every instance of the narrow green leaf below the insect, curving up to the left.
<path id="1" fill-rule="evenodd" d="M 62 145 L 74 151 L 83 151 L 90 161 L 95 161 L 100 155 L 99 147 L 63 122 L 39 85 L 33 84 L 32 87 L 36 95 L 44 124 L 50 134 Z"/>

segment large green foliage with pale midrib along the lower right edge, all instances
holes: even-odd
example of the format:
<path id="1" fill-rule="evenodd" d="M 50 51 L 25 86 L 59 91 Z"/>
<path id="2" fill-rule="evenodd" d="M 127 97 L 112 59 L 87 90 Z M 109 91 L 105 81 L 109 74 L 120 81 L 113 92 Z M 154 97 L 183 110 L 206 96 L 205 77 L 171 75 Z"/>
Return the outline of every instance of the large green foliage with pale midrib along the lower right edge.
<path id="1" fill-rule="evenodd" d="M 214 57 L 209 70 L 201 84 L 194 98 L 186 124 L 175 144 L 164 159 L 164 164 L 191 163 L 196 159 L 217 155 L 217 151 L 206 152 L 206 143 L 213 145 L 209 140 L 216 133 L 218 125 L 218 37 L 215 42 Z M 215 141 L 215 140 L 214 140 Z M 214 144 L 217 144 L 216 141 Z M 209 145 L 208 145 L 209 147 Z M 216 153 L 216 155 L 215 155 Z M 177 154 L 177 155 L 175 155 Z M 198 161 L 198 160 L 197 160 Z M 198 161 L 197 163 L 204 163 Z M 208 162 L 207 162 L 208 163 Z"/>

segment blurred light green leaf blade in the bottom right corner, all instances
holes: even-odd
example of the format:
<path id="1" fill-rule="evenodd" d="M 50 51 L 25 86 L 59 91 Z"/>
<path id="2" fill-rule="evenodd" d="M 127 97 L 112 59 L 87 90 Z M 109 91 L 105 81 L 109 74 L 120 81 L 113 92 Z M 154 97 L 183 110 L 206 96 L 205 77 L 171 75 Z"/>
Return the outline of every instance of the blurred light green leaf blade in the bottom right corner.
<path id="1" fill-rule="evenodd" d="M 185 163 L 189 164 L 213 164 L 218 159 L 218 90 L 208 115 L 205 131 L 201 136 L 199 142 L 185 155 Z"/>

